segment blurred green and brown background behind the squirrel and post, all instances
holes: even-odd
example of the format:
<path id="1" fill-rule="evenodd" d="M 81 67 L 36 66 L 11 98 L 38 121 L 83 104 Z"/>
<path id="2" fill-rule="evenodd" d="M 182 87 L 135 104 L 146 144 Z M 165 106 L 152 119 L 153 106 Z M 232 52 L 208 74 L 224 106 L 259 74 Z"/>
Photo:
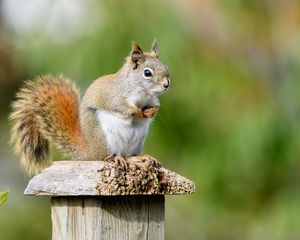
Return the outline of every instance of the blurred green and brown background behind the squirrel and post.
<path id="1" fill-rule="evenodd" d="M 0 239 L 51 238 L 8 145 L 22 82 L 64 73 L 83 93 L 154 37 L 172 88 L 145 152 L 197 187 L 167 197 L 166 239 L 300 239 L 299 29 L 297 0 L 0 0 Z"/>

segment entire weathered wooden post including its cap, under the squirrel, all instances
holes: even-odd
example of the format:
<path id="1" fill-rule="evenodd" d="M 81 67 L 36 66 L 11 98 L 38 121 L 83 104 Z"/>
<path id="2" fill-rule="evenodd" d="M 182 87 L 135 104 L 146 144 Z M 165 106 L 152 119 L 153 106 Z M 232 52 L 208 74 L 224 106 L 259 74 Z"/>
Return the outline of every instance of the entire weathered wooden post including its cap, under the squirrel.
<path id="1" fill-rule="evenodd" d="M 195 190 L 160 166 L 58 161 L 33 177 L 26 195 L 51 196 L 53 240 L 164 239 L 164 195 Z"/>

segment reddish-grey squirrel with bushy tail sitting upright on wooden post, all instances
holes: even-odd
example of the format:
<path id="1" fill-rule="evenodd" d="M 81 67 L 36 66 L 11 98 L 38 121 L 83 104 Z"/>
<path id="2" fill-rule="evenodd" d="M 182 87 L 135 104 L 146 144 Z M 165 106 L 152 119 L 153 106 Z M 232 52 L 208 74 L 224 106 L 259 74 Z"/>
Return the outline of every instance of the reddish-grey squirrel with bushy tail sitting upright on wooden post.
<path id="1" fill-rule="evenodd" d="M 79 89 L 63 75 L 39 76 L 16 94 L 9 116 L 11 142 L 21 165 L 36 174 L 51 163 L 50 142 L 76 160 L 106 160 L 142 154 L 158 96 L 170 86 L 168 67 L 133 43 L 121 69 L 96 79 L 81 102 Z"/>

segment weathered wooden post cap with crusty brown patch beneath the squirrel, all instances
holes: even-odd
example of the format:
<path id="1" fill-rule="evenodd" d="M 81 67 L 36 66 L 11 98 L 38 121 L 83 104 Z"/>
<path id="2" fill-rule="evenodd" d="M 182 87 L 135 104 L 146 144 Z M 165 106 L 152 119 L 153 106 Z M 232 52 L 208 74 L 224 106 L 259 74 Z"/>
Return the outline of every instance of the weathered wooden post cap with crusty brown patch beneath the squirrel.
<path id="1" fill-rule="evenodd" d="M 161 166 L 124 167 L 103 161 L 57 161 L 34 176 L 24 194 L 112 196 L 189 194 L 195 184 Z"/>

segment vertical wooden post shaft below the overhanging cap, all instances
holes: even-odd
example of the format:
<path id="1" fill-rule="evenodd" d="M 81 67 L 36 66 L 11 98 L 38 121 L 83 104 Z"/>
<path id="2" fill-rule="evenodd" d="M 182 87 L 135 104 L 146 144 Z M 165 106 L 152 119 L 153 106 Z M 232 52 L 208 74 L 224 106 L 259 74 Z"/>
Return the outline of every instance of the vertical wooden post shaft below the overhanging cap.
<path id="1" fill-rule="evenodd" d="M 53 240 L 164 239 L 164 196 L 53 197 Z"/>

